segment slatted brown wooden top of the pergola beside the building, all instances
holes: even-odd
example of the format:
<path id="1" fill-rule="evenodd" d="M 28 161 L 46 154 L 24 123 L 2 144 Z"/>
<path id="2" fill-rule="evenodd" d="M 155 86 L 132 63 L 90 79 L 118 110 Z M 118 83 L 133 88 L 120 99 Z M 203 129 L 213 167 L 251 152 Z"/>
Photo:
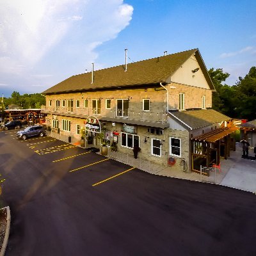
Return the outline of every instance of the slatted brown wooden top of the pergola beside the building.
<path id="1" fill-rule="evenodd" d="M 238 127 L 221 127 L 220 129 L 213 130 L 191 138 L 193 141 L 206 141 L 206 142 L 215 142 L 227 136 L 228 134 L 238 130 Z"/>

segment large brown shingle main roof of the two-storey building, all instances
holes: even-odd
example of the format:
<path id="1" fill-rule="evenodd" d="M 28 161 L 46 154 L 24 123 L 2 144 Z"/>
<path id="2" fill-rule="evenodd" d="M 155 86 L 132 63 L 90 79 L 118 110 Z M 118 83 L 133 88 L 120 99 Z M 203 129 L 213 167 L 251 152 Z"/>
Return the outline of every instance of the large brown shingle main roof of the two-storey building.
<path id="1" fill-rule="evenodd" d="M 129 63 L 127 65 L 127 72 L 125 72 L 125 65 L 94 71 L 93 84 L 92 72 L 72 76 L 45 90 L 43 93 L 76 92 L 160 83 L 170 77 L 192 54 L 196 54 L 198 63 L 205 74 L 209 86 L 214 90 L 198 49 L 193 49 L 150 60 Z"/>

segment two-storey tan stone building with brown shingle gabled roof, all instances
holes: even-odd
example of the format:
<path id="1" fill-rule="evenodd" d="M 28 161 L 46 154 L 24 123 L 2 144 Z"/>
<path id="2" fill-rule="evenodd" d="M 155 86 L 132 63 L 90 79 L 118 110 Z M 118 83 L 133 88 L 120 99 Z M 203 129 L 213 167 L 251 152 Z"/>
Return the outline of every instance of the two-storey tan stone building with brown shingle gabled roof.
<path id="1" fill-rule="evenodd" d="M 211 109 L 212 91 L 200 52 L 192 49 L 97 71 L 92 66 L 92 72 L 45 90 L 43 111 L 52 131 L 72 142 L 80 140 L 86 127 L 86 147 L 100 147 L 103 132 L 118 152 L 132 154 L 132 148 L 140 147 L 141 159 L 177 166 L 184 159 L 196 172 L 192 155 L 204 154 L 204 143 L 193 139 L 216 130 L 222 140 L 220 129 L 230 122 Z M 224 138 L 232 132 L 227 129 Z M 208 148 L 208 166 L 209 152 Z"/>

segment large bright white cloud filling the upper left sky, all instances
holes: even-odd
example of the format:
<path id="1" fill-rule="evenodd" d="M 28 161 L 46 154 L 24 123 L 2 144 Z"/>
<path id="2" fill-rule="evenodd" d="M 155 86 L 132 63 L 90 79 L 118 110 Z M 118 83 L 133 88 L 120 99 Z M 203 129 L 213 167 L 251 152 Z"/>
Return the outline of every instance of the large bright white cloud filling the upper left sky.
<path id="1" fill-rule="evenodd" d="M 123 0 L 1 0 L 0 74 L 35 86 L 51 83 L 45 79 L 63 74 L 64 65 L 83 69 L 96 60 L 97 46 L 129 25 L 132 12 Z"/>

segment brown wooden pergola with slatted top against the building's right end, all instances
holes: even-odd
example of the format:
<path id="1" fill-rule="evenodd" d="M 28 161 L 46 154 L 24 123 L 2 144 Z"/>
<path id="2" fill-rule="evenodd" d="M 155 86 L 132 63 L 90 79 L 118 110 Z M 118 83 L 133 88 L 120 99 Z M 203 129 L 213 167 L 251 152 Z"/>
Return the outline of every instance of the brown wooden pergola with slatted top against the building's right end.
<path id="1" fill-rule="evenodd" d="M 220 164 L 220 158 L 227 159 L 230 150 L 236 150 L 236 141 L 230 134 L 237 127 L 221 127 L 191 138 L 192 171 L 200 172 L 200 165 Z"/>

